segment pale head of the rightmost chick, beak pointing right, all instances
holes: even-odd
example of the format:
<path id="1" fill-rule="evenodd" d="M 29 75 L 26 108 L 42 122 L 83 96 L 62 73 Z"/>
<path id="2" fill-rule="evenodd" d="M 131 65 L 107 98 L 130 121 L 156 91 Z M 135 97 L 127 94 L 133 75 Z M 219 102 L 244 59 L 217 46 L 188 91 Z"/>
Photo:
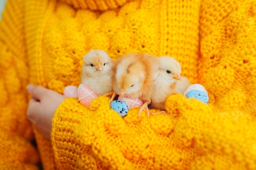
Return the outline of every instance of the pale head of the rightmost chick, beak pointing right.
<path id="1" fill-rule="evenodd" d="M 162 56 L 159 57 L 160 66 L 159 66 L 159 76 L 163 77 L 169 82 L 177 80 L 182 80 L 180 76 L 181 66 L 180 63 L 175 60 L 173 57 Z"/>

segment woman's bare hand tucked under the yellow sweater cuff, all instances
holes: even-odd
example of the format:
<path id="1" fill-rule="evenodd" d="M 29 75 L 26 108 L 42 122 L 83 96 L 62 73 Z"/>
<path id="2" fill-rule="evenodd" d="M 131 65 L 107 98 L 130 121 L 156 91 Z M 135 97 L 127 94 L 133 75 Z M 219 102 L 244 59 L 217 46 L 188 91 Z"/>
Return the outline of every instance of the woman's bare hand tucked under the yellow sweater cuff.
<path id="1" fill-rule="evenodd" d="M 27 118 L 43 137 L 50 139 L 52 118 L 65 96 L 42 86 L 28 85 L 27 90 L 32 96 L 27 109 Z"/>

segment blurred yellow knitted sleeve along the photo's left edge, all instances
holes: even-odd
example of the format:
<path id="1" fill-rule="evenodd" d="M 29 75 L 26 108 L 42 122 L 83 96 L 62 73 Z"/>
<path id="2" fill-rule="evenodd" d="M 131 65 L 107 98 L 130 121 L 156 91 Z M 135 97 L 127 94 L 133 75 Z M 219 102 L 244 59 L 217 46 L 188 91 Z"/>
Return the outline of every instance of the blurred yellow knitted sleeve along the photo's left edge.
<path id="1" fill-rule="evenodd" d="M 39 160 L 27 120 L 28 66 L 21 0 L 9 0 L 0 21 L 0 169 L 36 170 Z"/>

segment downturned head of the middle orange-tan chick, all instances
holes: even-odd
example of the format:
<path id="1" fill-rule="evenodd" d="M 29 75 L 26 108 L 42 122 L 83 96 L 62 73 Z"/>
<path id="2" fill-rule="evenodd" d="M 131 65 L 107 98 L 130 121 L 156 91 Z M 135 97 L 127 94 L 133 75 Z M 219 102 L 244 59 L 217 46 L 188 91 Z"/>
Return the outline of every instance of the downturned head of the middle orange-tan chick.
<path id="1" fill-rule="evenodd" d="M 119 95 L 130 95 L 138 92 L 146 78 L 144 66 L 140 63 L 123 62 L 117 66 L 117 85 Z"/>

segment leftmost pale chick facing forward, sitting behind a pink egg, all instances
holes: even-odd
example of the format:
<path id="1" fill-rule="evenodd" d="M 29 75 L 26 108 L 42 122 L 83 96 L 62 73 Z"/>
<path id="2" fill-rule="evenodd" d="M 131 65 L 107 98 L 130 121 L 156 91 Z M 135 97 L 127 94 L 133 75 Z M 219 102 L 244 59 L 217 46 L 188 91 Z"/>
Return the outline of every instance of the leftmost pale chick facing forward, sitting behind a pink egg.
<path id="1" fill-rule="evenodd" d="M 103 50 L 92 49 L 83 57 L 81 83 L 98 95 L 112 91 L 111 78 L 114 60 Z"/>

